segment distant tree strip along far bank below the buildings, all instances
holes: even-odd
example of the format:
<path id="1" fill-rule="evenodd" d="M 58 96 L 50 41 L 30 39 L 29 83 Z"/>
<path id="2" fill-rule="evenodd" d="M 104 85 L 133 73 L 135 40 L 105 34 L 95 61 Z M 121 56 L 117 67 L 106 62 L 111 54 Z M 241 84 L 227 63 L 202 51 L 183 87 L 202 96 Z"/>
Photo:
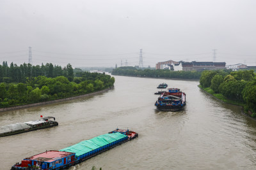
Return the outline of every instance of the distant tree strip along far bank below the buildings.
<path id="1" fill-rule="evenodd" d="M 201 72 L 198 71 L 170 71 L 166 69 L 138 69 L 136 67 L 118 67 L 113 69 L 113 75 L 120 76 L 147 76 L 158 78 L 184 78 L 199 79 Z"/>

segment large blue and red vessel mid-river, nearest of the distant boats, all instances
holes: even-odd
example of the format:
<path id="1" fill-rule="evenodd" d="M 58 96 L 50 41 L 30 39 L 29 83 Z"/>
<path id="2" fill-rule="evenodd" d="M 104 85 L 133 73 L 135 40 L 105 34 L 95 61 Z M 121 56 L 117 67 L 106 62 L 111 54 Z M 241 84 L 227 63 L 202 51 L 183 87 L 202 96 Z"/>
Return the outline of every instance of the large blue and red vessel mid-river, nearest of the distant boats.
<path id="1" fill-rule="evenodd" d="M 163 92 L 155 103 L 157 110 L 161 111 L 179 111 L 186 105 L 186 94 L 180 92 L 180 89 L 168 89 Z"/>

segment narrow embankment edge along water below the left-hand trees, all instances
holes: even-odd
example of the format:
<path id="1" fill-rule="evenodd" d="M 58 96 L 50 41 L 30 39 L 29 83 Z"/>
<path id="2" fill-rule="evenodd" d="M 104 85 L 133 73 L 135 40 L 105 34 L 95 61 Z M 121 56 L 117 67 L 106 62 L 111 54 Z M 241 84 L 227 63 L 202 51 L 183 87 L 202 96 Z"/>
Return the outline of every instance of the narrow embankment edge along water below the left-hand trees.
<path id="1" fill-rule="evenodd" d="M 52 103 L 60 103 L 62 101 L 70 101 L 70 100 L 73 100 L 73 99 L 79 99 L 81 97 L 95 96 L 97 94 L 107 92 L 108 90 L 111 90 L 111 89 L 113 89 L 113 87 L 108 87 L 108 89 L 100 90 L 98 92 L 92 92 L 90 94 L 83 94 L 83 95 L 80 95 L 80 96 L 67 97 L 65 99 L 58 99 L 58 100 L 54 100 L 54 101 L 45 101 L 45 102 L 41 102 L 41 103 L 26 104 L 26 105 L 22 105 L 22 106 L 13 106 L 13 107 L 10 107 L 10 108 L 0 108 L 0 112 L 10 111 L 10 110 L 18 110 L 18 109 L 22 109 L 22 108 L 31 108 L 31 107 L 35 107 L 35 106 L 42 106 L 42 105 L 52 104 Z"/>

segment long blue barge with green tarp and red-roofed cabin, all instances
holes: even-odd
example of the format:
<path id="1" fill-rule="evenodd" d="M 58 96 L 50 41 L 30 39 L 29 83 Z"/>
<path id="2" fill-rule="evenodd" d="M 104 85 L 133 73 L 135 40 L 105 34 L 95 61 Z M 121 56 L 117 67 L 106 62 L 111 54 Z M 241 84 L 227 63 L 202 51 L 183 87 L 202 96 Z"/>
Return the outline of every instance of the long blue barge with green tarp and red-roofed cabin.
<path id="1" fill-rule="evenodd" d="M 108 134 L 102 134 L 95 138 L 81 141 L 76 145 L 61 150 L 50 150 L 25 158 L 21 163 L 16 163 L 11 170 L 39 170 L 39 169 L 68 169 L 86 159 L 105 152 L 117 145 L 137 138 L 138 133 L 116 129 Z"/>

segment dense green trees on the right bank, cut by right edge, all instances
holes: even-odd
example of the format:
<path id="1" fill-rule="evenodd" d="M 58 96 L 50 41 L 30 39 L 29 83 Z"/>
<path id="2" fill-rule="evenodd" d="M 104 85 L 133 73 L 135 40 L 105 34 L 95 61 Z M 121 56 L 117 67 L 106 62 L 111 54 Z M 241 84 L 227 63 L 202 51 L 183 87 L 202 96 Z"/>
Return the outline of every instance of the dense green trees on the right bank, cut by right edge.
<path id="1" fill-rule="evenodd" d="M 245 110 L 256 112 L 256 75 L 246 71 L 204 71 L 200 77 L 202 87 L 210 87 L 227 99 L 245 103 Z M 255 115 L 255 114 L 254 114 Z"/>

